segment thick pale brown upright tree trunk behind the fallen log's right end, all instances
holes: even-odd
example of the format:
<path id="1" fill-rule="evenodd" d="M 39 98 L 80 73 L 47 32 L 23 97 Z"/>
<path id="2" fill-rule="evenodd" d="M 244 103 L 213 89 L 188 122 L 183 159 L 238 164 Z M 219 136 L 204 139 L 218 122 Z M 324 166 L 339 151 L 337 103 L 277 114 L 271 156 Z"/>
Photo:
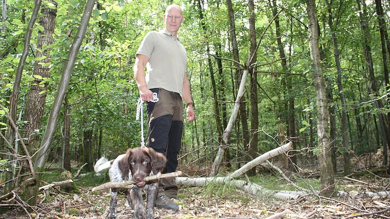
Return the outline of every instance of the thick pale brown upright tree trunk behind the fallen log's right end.
<path id="1" fill-rule="evenodd" d="M 335 179 L 330 156 L 329 114 L 326 96 L 326 86 L 323 80 L 322 66 L 319 59 L 317 14 L 315 0 L 307 1 L 309 24 L 309 49 L 312 59 L 314 87 L 317 96 L 317 134 L 319 149 L 320 191 L 322 195 L 330 196 L 335 191 Z"/>

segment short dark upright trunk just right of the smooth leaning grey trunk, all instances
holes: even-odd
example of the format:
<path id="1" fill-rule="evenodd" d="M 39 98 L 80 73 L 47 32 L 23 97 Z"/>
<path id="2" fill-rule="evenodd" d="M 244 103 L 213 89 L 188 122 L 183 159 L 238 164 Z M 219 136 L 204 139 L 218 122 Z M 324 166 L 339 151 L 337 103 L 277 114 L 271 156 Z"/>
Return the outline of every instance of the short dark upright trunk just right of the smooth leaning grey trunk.
<path id="1" fill-rule="evenodd" d="M 71 135 L 71 106 L 68 102 L 68 95 L 63 103 L 63 144 L 62 144 L 62 169 L 71 171 L 70 145 L 69 139 Z"/>

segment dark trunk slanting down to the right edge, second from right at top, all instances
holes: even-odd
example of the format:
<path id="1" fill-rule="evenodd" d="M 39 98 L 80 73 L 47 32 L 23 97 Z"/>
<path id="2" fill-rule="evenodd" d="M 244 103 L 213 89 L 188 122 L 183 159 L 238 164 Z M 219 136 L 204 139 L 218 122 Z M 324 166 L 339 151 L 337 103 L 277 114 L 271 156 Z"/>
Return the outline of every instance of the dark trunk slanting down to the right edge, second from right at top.
<path id="1" fill-rule="evenodd" d="M 359 18 L 360 18 L 360 25 L 362 28 L 362 38 L 363 38 L 363 45 L 364 45 L 364 51 L 365 51 L 365 58 L 366 58 L 366 66 L 369 74 L 370 84 L 371 84 L 371 91 L 374 94 L 378 94 L 378 86 L 376 84 L 376 79 L 374 75 L 374 68 L 373 68 L 373 61 L 372 61 L 372 55 L 371 55 L 371 46 L 369 43 L 369 39 L 371 39 L 371 33 L 368 29 L 367 24 L 367 12 L 366 12 L 366 2 L 361 0 L 356 0 L 356 3 L 358 3 L 358 10 L 359 10 Z M 363 10 L 361 7 L 361 3 L 363 5 Z M 380 99 L 375 100 L 375 107 L 376 108 L 383 108 L 382 101 Z M 385 121 L 383 119 L 383 114 L 378 114 L 378 120 L 380 125 L 380 130 L 383 137 L 383 164 L 387 165 L 387 148 L 386 145 L 390 145 L 390 139 L 387 132 L 387 126 L 385 124 Z"/>

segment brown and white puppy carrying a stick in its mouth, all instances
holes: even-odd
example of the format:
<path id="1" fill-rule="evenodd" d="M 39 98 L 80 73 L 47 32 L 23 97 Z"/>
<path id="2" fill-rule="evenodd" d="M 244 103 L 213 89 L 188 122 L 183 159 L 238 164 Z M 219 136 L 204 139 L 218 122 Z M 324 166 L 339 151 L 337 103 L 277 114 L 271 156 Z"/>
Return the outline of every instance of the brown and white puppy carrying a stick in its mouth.
<path id="1" fill-rule="evenodd" d="M 95 172 L 109 169 L 110 180 L 134 180 L 136 186 L 126 191 L 128 204 L 134 209 L 134 218 L 154 218 L 154 203 L 156 200 L 158 181 L 143 181 L 146 176 L 163 171 L 167 159 L 152 148 L 128 149 L 126 154 L 119 155 L 115 160 L 108 161 L 102 157 L 94 167 Z M 142 190 L 146 190 L 146 214 L 142 202 Z M 116 202 L 118 189 L 111 189 L 109 218 L 116 218 Z"/>

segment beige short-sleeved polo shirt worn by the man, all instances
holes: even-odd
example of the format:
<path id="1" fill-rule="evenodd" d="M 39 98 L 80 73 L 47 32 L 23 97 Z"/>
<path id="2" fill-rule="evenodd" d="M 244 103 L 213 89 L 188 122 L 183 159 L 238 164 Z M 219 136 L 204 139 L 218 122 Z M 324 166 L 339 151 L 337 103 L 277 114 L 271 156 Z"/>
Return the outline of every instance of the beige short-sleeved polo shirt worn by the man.
<path id="1" fill-rule="evenodd" d="M 163 88 L 182 96 L 184 74 L 187 67 L 187 52 L 167 29 L 148 32 L 137 54 L 149 58 L 146 65 L 148 88 Z"/>

